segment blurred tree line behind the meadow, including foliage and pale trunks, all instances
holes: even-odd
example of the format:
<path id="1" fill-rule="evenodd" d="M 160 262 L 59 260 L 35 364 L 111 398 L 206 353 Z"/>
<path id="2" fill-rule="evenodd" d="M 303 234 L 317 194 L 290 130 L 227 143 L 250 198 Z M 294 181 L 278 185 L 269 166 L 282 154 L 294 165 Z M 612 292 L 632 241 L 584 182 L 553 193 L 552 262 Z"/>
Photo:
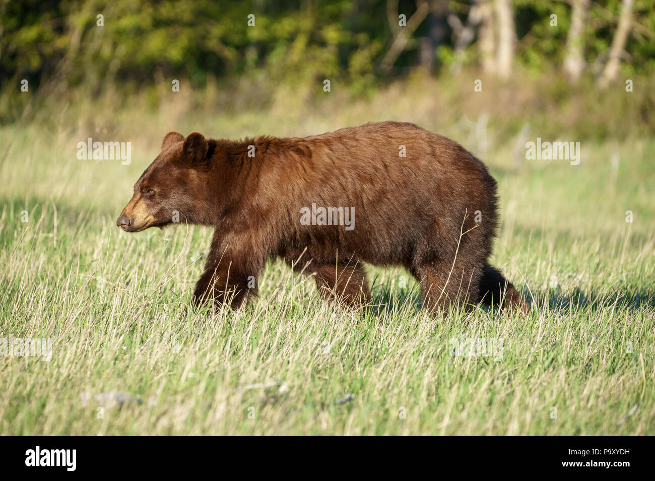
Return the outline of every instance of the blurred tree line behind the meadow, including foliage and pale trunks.
<path id="1" fill-rule="evenodd" d="M 655 71 L 653 0 L 0 0 L 0 86 Z M 250 16 L 250 17 L 249 17 Z"/>

